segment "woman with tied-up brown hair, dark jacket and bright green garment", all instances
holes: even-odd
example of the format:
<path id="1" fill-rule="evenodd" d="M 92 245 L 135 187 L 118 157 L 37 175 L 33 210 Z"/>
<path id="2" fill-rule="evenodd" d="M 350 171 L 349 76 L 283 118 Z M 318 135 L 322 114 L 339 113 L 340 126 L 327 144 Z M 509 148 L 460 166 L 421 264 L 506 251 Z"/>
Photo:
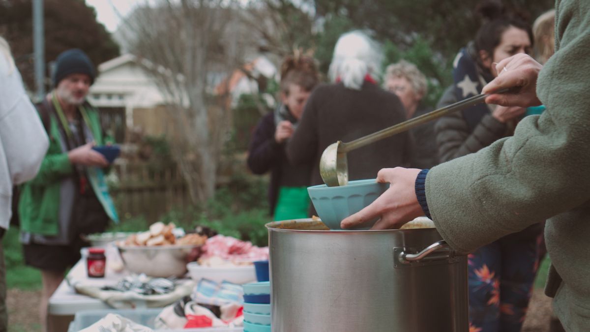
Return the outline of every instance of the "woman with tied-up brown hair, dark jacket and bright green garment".
<path id="1" fill-rule="evenodd" d="M 312 57 L 301 54 L 287 57 L 281 66 L 281 103 L 274 112 L 260 119 L 248 148 L 250 170 L 254 174 L 271 171 L 268 203 L 274 220 L 308 216 L 307 187 L 312 165 L 291 165 L 285 145 L 297 128 L 307 98 L 318 80 Z"/>

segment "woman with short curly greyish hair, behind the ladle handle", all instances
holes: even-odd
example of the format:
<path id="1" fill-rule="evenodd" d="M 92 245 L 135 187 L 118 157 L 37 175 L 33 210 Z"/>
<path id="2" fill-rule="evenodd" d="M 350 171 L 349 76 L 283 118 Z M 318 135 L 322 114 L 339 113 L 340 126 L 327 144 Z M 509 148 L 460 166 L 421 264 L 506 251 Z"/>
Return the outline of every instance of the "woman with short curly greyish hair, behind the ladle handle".
<path id="1" fill-rule="evenodd" d="M 387 66 L 383 88 L 399 97 L 404 105 L 407 119 L 415 118 L 432 110 L 421 103 L 428 92 L 428 84 L 426 76 L 413 63 L 400 60 L 398 63 Z M 431 168 L 437 165 L 438 151 L 434 122 L 424 123 L 424 125 L 411 129 L 410 134 L 416 145 L 412 167 Z"/>

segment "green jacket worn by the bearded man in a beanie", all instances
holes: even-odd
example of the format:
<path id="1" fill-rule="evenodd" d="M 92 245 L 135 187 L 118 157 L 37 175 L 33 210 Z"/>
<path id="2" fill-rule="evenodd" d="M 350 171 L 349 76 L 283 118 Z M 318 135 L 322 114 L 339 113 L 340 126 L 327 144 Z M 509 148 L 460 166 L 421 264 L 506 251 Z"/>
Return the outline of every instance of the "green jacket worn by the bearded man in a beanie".
<path id="1" fill-rule="evenodd" d="M 96 144 L 103 145 L 110 141 L 103 137 L 97 110 L 92 107 L 87 107 L 87 110 Z M 23 185 L 18 204 L 21 230 L 46 236 L 54 236 L 59 232 L 61 180 L 74 174 L 68 154 L 61 149 L 58 120 L 55 116 L 50 119 L 49 149 L 37 176 Z"/>

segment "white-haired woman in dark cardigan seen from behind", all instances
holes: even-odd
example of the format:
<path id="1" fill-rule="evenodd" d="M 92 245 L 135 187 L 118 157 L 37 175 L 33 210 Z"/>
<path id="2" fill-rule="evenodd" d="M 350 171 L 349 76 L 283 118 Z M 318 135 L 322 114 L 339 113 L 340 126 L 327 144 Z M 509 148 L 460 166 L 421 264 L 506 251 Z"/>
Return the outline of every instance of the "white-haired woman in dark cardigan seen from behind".
<path id="1" fill-rule="evenodd" d="M 380 45 L 361 31 L 343 34 L 337 41 L 329 73 L 333 83 L 313 90 L 287 142 L 291 163 L 314 165 L 312 185 L 323 183 L 318 165 L 328 145 L 349 142 L 405 120 L 399 98 L 376 83 L 382 58 Z M 351 151 L 350 180 L 374 178 L 383 167 L 408 165 L 411 144 L 409 134 L 403 133 Z"/>

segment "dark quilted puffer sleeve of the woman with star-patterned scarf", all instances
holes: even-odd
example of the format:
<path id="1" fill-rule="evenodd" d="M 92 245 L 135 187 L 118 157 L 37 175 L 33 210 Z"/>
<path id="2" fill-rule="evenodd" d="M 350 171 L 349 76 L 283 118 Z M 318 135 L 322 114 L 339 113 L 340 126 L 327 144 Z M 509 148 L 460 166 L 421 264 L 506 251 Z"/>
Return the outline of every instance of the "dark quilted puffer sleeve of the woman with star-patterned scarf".
<path id="1" fill-rule="evenodd" d="M 453 86 L 448 87 L 438 102 L 437 108 L 457 102 Z M 453 160 L 487 147 L 504 136 L 506 125 L 497 121 L 491 114 L 481 118 L 473 132 L 469 131 L 467 122 L 461 112 L 455 112 L 440 118 L 435 125 L 438 157 L 441 162 Z"/>

